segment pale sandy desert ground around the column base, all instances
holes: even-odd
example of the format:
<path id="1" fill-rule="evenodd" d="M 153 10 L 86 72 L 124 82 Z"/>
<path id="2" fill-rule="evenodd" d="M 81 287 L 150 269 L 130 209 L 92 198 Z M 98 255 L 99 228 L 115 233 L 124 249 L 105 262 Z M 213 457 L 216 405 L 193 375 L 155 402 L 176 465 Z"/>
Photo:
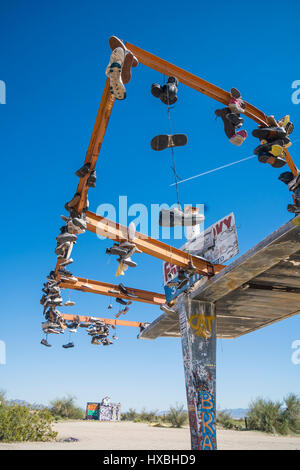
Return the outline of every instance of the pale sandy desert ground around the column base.
<path id="1" fill-rule="evenodd" d="M 154 428 L 144 423 L 67 421 L 54 425 L 58 442 L 0 444 L 0 450 L 185 450 L 190 449 L 188 428 Z M 61 442 L 75 437 L 78 442 Z M 224 450 L 300 450 L 300 437 L 279 437 L 255 431 L 217 431 L 218 448 Z"/>

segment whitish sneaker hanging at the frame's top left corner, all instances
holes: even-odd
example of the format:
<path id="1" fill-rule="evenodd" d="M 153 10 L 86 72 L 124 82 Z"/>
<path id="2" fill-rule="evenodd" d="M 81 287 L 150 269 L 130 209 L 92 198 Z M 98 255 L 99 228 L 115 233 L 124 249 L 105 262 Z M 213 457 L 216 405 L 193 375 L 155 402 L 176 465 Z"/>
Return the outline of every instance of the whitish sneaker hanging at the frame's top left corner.
<path id="1" fill-rule="evenodd" d="M 105 71 L 105 75 L 110 80 L 110 91 L 118 100 L 126 98 L 126 90 L 122 81 L 124 59 L 124 49 L 117 47 L 111 53 L 109 64 Z"/>

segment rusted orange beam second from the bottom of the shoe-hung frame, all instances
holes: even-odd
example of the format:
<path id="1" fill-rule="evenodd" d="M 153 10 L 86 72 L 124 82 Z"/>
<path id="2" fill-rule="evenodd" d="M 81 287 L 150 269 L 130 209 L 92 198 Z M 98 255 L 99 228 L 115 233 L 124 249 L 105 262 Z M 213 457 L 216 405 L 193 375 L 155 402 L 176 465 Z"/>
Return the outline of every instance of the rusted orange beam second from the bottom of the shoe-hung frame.
<path id="1" fill-rule="evenodd" d="M 76 276 L 77 277 L 77 276 Z M 60 278 L 60 276 L 58 276 Z M 132 300 L 136 302 L 144 302 L 153 305 L 161 305 L 166 302 L 166 297 L 163 294 L 157 292 L 150 292 L 141 289 L 133 289 L 132 287 L 126 287 L 130 294 L 136 297 L 125 295 L 121 292 L 118 285 L 108 284 L 106 282 L 92 281 L 90 279 L 77 277 L 76 282 L 68 282 L 65 280 L 61 281 L 61 289 L 74 289 L 82 292 L 91 292 L 93 294 L 106 295 L 108 297 L 119 297 L 121 299 Z"/>

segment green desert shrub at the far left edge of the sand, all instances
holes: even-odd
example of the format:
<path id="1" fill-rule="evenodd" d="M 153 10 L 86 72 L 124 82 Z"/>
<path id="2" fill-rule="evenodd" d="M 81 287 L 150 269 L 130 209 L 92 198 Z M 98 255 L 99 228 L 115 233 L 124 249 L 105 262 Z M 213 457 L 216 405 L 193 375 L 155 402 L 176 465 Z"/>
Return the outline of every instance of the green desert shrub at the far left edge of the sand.
<path id="1" fill-rule="evenodd" d="M 0 441 L 49 441 L 53 416 L 49 410 L 32 410 L 23 405 L 0 405 Z"/>

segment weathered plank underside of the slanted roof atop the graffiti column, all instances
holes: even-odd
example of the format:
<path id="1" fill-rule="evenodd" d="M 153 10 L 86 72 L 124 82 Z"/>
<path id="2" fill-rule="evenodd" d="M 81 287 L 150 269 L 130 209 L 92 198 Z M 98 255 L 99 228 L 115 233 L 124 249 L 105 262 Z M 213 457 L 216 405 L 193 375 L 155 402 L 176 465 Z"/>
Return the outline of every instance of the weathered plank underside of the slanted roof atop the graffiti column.
<path id="1" fill-rule="evenodd" d="M 236 338 L 300 313 L 300 216 L 200 284 L 189 295 L 215 303 L 219 338 Z M 161 315 L 139 337 L 159 336 L 180 336 L 177 313 Z"/>

